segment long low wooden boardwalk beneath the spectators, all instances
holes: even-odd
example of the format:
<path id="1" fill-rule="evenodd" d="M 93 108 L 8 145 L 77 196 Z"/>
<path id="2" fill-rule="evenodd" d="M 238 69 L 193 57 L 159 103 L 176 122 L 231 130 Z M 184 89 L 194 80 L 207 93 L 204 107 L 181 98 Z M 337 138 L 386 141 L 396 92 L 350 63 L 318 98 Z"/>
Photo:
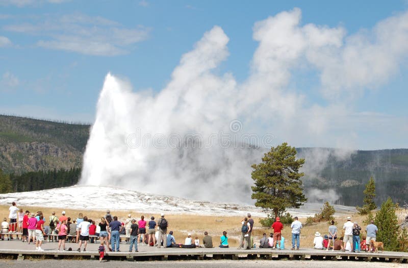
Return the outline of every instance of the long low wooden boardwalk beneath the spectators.
<path id="1" fill-rule="evenodd" d="M 78 252 L 78 244 L 66 243 L 66 249 L 72 248 L 72 251 L 57 251 L 58 243 L 44 242 L 42 248 L 44 251 L 36 251 L 33 244 L 27 242 L 0 241 L 0 256 L 24 259 L 24 258 L 84 258 L 98 259 L 98 244 L 88 244 L 87 251 Z M 83 248 L 83 247 L 82 247 Z M 139 252 L 129 252 L 129 245 L 120 244 L 120 252 L 107 252 L 107 259 L 130 260 L 130 261 L 148 261 L 148 260 L 186 260 L 186 259 L 294 259 L 294 260 L 356 260 L 356 261 L 384 261 L 384 262 L 408 262 L 408 253 L 400 252 L 379 252 L 379 253 L 351 253 L 341 251 L 325 251 L 314 249 L 292 250 L 271 250 L 271 249 L 251 249 L 237 250 L 229 249 L 179 249 L 179 248 L 161 248 L 139 246 Z"/>

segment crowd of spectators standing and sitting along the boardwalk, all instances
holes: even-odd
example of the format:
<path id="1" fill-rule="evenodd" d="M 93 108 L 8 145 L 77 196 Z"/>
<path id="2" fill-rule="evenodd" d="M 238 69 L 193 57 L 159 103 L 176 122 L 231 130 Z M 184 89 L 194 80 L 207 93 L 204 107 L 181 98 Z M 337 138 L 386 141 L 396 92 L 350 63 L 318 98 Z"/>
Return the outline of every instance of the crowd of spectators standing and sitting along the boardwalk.
<path id="1" fill-rule="evenodd" d="M 86 251 L 88 241 L 94 243 L 99 239 L 99 250 L 102 255 L 106 250 L 118 252 L 121 237 L 124 237 L 125 241 L 129 244 L 129 252 L 132 252 L 133 249 L 137 252 L 140 245 L 156 246 L 157 248 L 213 248 L 212 237 L 207 231 L 203 233 L 202 243 L 200 243 L 197 236 L 193 239 L 191 233 L 188 233 L 184 243 L 177 243 L 173 236 L 173 231 L 167 231 L 169 223 L 163 213 L 161 213 L 157 221 L 155 221 L 154 216 L 151 216 L 150 221 L 147 222 L 143 215 L 140 217 L 140 220 L 136 220 L 136 218 L 129 214 L 124 222 L 119 222 L 117 216 L 112 216 L 110 211 L 107 210 L 106 215 L 100 218 L 98 224 L 82 213 L 79 213 L 76 219 L 67 217 L 65 214 L 65 211 L 62 211 L 61 215 L 57 216 L 53 212 L 46 219 L 41 211 L 34 213 L 25 210 L 24 212 L 22 209 L 17 208 L 16 203 L 13 202 L 9 208 L 10 221 L 7 222 L 7 218 L 4 218 L 1 224 L 1 239 L 13 240 L 15 235 L 16 239 L 21 239 L 23 242 L 28 242 L 29 244 L 33 242 L 36 250 L 42 251 L 42 242 L 46 237 L 48 241 L 58 241 L 58 250 L 62 251 L 66 250 L 66 241 L 78 243 L 78 252 Z M 46 224 L 46 220 L 48 220 L 48 224 Z M 251 249 L 255 247 L 251 237 L 254 225 L 251 214 L 248 213 L 247 217 L 242 218 L 240 224 L 241 236 L 238 249 Z M 292 229 L 292 250 L 299 250 L 300 248 L 300 231 L 302 227 L 298 217 L 294 217 L 294 221 L 290 226 Z M 282 236 L 284 225 L 279 217 L 275 218 L 271 229 L 273 229 L 273 233 L 270 233 L 269 237 L 264 233 L 260 239 L 259 247 L 277 250 L 284 249 L 285 238 Z M 335 222 L 331 221 L 326 235 L 322 237 L 319 232 L 315 233 L 313 240 L 314 248 L 325 249 L 327 251 L 349 250 L 350 252 L 373 250 L 372 241 L 375 241 L 378 231 L 373 222 L 366 227 L 367 235 L 362 236 L 362 241 L 360 241 L 361 227 L 356 222 L 352 223 L 350 217 L 347 217 L 347 222 L 344 223 L 343 229 L 344 237 L 338 238 L 339 231 L 335 226 Z M 21 237 L 19 237 L 19 234 Z M 218 247 L 229 247 L 226 231 L 223 231 L 220 236 Z"/>

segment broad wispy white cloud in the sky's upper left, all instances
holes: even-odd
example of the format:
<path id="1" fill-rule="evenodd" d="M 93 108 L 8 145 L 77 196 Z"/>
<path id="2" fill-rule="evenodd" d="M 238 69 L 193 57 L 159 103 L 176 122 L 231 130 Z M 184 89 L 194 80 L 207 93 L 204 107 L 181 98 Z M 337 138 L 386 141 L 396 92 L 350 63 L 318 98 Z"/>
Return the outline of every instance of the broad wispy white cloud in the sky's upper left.
<path id="1" fill-rule="evenodd" d="M 33 21 L 3 28 L 40 36 L 37 41 L 40 47 L 97 56 L 129 53 L 134 44 L 148 38 L 150 30 L 143 26 L 125 28 L 116 21 L 80 13 L 33 18 Z"/>

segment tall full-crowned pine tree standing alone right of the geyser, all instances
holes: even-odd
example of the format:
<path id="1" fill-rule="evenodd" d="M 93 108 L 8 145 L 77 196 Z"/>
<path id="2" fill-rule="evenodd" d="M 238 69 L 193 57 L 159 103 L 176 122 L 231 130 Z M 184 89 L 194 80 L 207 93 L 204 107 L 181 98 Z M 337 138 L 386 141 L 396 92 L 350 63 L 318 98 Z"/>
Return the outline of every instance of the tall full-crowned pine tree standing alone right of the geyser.
<path id="1" fill-rule="evenodd" d="M 252 199 L 256 199 L 255 206 L 264 211 L 273 211 L 275 217 L 283 213 L 286 208 L 299 208 L 307 201 L 304 197 L 299 168 L 304 159 L 296 160 L 296 150 L 286 142 L 278 145 L 264 155 L 262 162 L 253 164 L 251 177 Z"/>

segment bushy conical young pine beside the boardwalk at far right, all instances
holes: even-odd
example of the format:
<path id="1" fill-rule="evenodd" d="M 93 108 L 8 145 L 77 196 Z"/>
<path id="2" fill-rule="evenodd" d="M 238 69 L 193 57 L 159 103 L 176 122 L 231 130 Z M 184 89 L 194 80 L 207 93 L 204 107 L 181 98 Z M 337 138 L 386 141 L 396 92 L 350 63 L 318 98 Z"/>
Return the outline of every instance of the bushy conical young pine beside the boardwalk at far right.
<path id="1" fill-rule="evenodd" d="M 398 218 L 395 214 L 396 206 L 389 197 L 381 204 L 380 210 L 374 218 L 374 223 L 378 228 L 377 241 L 384 243 L 384 250 L 397 251 L 398 242 Z"/>

